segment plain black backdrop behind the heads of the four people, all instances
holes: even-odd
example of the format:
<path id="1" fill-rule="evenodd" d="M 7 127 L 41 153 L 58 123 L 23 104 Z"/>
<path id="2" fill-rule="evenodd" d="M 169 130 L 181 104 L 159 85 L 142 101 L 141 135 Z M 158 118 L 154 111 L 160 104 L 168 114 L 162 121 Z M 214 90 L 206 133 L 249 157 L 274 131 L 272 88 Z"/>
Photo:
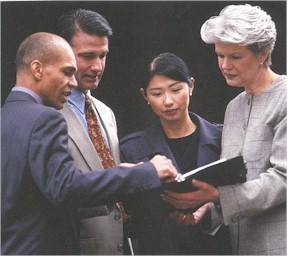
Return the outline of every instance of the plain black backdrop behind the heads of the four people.
<path id="1" fill-rule="evenodd" d="M 119 137 L 146 128 L 155 115 L 139 93 L 143 70 L 153 57 L 172 52 L 195 78 L 190 110 L 212 122 L 223 122 L 227 103 L 241 88 L 226 85 L 213 45 L 200 37 L 201 25 L 228 4 L 250 3 L 267 11 L 276 23 L 272 69 L 286 74 L 286 1 L 39 1 L 1 3 L 1 101 L 15 83 L 15 54 L 32 33 L 57 31 L 62 13 L 86 8 L 99 12 L 114 35 L 106 70 L 94 96 L 112 108 Z"/>

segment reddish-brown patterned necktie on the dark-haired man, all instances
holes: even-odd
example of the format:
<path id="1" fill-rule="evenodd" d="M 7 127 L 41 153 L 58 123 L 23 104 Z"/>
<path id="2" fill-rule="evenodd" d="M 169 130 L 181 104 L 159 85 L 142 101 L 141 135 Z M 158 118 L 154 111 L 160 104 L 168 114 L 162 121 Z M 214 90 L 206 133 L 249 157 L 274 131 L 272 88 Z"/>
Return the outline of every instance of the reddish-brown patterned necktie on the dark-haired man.
<path id="1" fill-rule="evenodd" d="M 114 167 L 116 165 L 115 161 L 107 146 L 106 140 L 102 135 L 100 124 L 98 122 L 96 112 L 93 109 L 91 99 L 87 95 L 85 96 L 85 103 L 86 103 L 86 120 L 90 139 L 96 149 L 96 152 L 100 157 L 104 169 Z M 121 211 L 123 222 L 125 223 L 128 219 L 128 215 L 125 213 L 123 204 L 119 202 L 116 203 L 116 205 Z"/>

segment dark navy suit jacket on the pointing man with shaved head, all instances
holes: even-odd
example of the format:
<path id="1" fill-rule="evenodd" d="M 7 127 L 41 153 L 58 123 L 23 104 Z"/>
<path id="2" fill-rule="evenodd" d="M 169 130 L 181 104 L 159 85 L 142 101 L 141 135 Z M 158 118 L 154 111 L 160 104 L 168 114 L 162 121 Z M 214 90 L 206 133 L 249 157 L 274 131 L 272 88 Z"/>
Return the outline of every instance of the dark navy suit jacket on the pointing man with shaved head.
<path id="1" fill-rule="evenodd" d="M 63 116 L 26 93 L 9 94 L 1 126 L 4 255 L 77 254 L 68 219 L 71 210 L 119 201 L 161 185 L 151 163 L 80 172 L 67 151 Z"/>

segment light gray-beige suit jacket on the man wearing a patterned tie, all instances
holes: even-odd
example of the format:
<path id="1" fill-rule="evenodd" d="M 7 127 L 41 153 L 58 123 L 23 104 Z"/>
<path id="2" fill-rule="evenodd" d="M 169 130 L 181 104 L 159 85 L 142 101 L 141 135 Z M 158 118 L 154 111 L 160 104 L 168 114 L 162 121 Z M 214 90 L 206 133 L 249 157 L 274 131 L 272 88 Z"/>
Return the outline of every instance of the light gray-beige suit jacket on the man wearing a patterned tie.
<path id="1" fill-rule="evenodd" d="M 109 140 L 112 156 L 120 163 L 117 126 L 113 111 L 91 97 L 102 119 Z M 99 156 L 82 124 L 68 104 L 59 111 L 68 126 L 68 150 L 83 172 L 103 169 Z M 80 217 L 80 247 L 82 255 L 122 255 L 123 221 L 118 208 L 100 206 L 78 210 Z"/>

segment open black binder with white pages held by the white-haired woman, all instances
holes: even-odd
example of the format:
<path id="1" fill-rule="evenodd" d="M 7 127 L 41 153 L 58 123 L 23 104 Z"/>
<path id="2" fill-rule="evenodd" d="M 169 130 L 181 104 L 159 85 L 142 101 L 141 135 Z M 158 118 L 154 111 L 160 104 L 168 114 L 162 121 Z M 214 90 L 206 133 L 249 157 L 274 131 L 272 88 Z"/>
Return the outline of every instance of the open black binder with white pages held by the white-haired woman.
<path id="1" fill-rule="evenodd" d="M 246 166 L 242 156 L 220 159 L 185 174 L 178 174 L 173 182 L 163 184 L 163 189 L 179 193 L 195 191 L 192 179 L 207 182 L 215 187 L 246 181 Z"/>

